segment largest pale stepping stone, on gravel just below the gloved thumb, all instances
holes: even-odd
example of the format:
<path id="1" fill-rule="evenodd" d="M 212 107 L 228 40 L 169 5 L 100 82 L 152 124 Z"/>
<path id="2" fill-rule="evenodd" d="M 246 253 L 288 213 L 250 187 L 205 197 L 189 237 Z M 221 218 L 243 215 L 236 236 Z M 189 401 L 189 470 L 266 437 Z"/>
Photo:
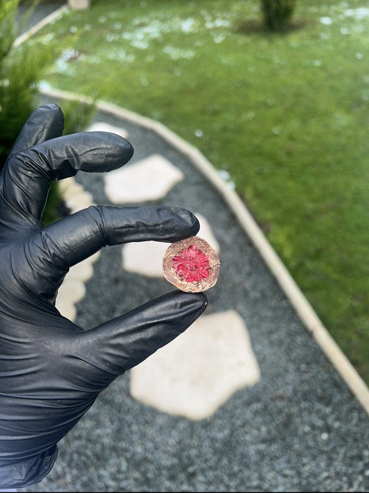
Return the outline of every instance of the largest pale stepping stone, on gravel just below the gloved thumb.
<path id="1" fill-rule="evenodd" d="M 132 368 L 130 392 L 143 404 L 203 420 L 260 379 L 244 320 L 235 311 L 201 315 L 183 334 Z"/>

